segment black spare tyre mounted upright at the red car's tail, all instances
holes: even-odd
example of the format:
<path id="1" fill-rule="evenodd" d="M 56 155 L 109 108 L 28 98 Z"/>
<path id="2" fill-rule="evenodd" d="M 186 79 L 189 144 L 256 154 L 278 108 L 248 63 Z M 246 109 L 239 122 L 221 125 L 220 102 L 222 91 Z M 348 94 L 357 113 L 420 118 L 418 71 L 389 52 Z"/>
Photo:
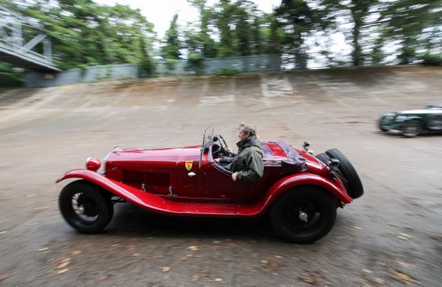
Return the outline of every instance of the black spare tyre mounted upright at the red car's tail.
<path id="1" fill-rule="evenodd" d="M 359 178 L 356 169 L 354 169 L 348 158 L 344 156 L 339 149 L 329 149 L 325 151 L 325 154 L 331 158 L 339 160 L 338 168 L 343 176 L 343 178 L 340 179 L 343 181 L 345 188 L 347 189 L 347 194 L 351 198 L 361 197 L 364 194 L 361 178 Z"/>

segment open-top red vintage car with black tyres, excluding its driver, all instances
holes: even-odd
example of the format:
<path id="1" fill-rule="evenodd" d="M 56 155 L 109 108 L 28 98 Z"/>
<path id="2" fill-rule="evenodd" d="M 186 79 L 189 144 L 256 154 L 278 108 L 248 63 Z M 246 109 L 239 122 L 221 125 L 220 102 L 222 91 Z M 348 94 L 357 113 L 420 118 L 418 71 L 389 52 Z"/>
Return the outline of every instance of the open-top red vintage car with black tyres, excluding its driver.
<path id="1" fill-rule="evenodd" d="M 207 131 L 207 129 L 206 129 Z M 363 194 L 356 170 L 338 149 L 313 155 L 283 141 L 261 140 L 264 176 L 233 182 L 214 159 L 229 156 L 222 136 L 204 131 L 202 145 L 164 149 L 115 147 L 102 164 L 86 160 L 57 179 L 79 178 L 59 195 L 64 219 L 83 233 L 102 231 L 115 203 L 130 202 L 171 216 L 270 216 L 285 241 L 311 243 L 332 229 L 337 207 Z"/>

